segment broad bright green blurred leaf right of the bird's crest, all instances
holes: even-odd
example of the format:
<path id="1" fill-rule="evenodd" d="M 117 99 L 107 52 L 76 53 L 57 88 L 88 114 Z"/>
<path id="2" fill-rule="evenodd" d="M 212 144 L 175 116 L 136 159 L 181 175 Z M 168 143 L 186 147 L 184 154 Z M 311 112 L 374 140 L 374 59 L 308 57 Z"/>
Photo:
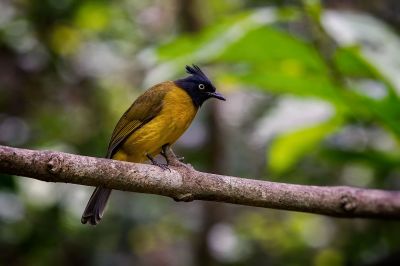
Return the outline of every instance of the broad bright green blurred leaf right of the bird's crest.
<path id="1" fill-rule="evenodd" d="M 313 46 L 271 26 L 248 31 L 217 59 L 236 64 L 225 76 L 237 83 L 342 104 L 338 92 L 343 88 L 332 81 Z"/>

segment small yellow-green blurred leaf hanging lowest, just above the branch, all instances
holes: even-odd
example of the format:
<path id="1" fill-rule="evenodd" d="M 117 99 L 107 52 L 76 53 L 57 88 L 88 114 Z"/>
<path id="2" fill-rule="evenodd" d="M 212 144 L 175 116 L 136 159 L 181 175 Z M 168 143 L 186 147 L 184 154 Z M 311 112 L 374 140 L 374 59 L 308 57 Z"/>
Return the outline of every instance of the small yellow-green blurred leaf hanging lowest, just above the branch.
<path id="1" fill-rule="evenodd" d="M 278 136 L 268 151 L 269 170 L 278 175 L 290 170 L 341 124 L 342 119 L 335 117 L 327 122 Z"/>

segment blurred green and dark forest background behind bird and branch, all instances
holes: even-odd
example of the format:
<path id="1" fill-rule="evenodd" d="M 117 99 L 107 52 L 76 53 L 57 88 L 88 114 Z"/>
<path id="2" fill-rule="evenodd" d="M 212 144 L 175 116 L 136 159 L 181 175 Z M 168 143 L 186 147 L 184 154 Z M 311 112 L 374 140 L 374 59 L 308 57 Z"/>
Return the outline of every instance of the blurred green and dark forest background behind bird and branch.
<path id="1" fill-rule="evenodd" d="M 144 89 L 198 64 L 209 101 L 175 145 L 195 168 L 400 189 L 396 0 L 1 0 L 0 143 L 104 156 Z M 400 223 L 0 175 L 1 265 L 400 265 Z"/>

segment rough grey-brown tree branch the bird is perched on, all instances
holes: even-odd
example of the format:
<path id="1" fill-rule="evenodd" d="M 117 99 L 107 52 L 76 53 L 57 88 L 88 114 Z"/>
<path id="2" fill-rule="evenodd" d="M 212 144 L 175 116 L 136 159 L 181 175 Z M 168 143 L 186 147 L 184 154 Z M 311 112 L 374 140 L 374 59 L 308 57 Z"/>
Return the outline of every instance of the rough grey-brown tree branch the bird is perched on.
<path id="1" fill-rule="evenodd" d="M 337 217 L 400 219 L 400 192 L 320 187 L 215 175 L 192 167 L 159 167 L 0 146 L 0 172 L 151 193 L 178 201 L 209 200 Z"/>

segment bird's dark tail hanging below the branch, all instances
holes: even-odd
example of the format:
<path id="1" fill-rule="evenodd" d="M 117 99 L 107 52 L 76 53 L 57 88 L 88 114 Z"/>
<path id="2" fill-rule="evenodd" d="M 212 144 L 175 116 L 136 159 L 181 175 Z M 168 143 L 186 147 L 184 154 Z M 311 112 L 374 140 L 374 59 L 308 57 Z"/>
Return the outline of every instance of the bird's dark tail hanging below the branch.
<path id="1" fill-rule="evenodd" d="M 110 194 L 111 189 L 108 188 L 97 187 L 94 190 L 82 214 L 81 222 L 83 224 L 89 221 L 89 224 L 96 225 L 100 222 Z"/>

